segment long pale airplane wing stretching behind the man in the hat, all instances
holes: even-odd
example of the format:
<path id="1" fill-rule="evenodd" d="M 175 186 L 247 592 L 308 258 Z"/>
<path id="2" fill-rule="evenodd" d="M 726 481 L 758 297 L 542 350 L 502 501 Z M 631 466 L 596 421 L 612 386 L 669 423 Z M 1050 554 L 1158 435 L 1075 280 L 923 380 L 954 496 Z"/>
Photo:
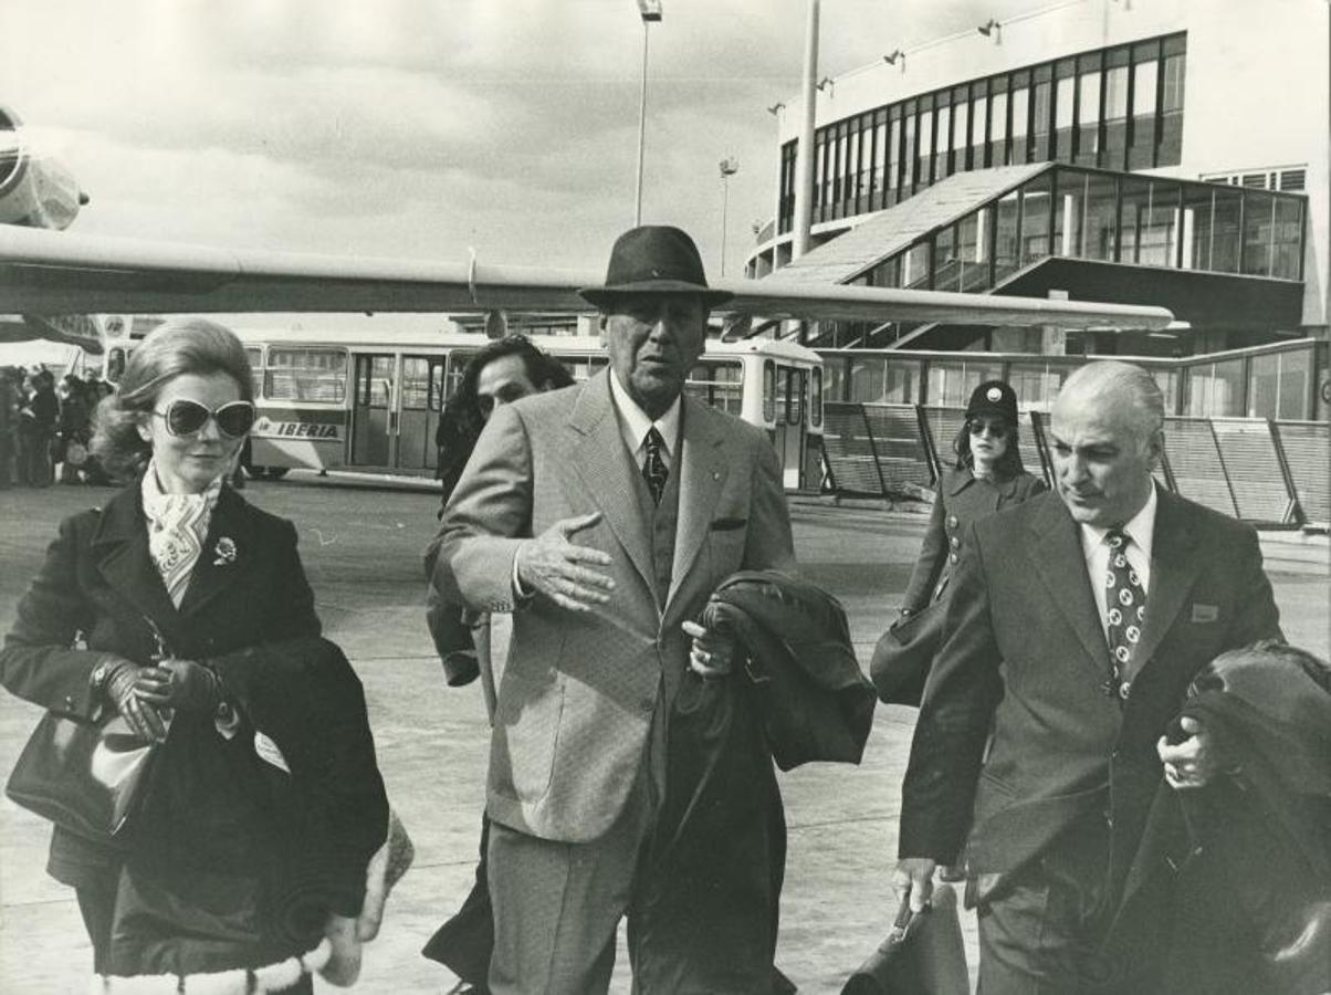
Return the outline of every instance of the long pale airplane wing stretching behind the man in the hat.
<path id="1" fill-rule="evenodd" d="M 373 259 L 72 235 L 0 225 L 0 314 L 587 311 L 599 273 Z M 724 309 L 764 318 L 1163 329 L 1163 307 L 888 287 L 720 279 Z"/>

